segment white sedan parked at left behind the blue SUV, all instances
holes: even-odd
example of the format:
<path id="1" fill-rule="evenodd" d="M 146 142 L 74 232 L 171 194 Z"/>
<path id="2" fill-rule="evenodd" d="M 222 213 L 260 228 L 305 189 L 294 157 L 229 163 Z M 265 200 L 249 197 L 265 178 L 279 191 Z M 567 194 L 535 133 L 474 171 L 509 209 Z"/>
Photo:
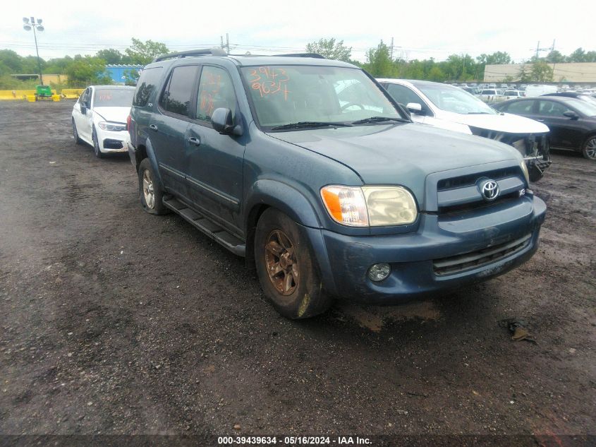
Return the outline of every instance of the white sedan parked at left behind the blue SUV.
<path id="1" fill-rule="evenodd" d="M 90 85 L 73 107 L 73 136 L 77 144 L 93 146 L 95 156 L 128 150 L 126 119 L 133 105 L 134 87 Z"/>

